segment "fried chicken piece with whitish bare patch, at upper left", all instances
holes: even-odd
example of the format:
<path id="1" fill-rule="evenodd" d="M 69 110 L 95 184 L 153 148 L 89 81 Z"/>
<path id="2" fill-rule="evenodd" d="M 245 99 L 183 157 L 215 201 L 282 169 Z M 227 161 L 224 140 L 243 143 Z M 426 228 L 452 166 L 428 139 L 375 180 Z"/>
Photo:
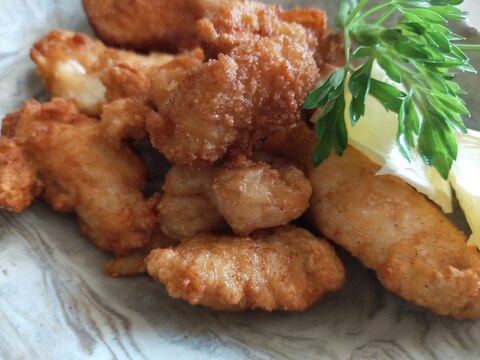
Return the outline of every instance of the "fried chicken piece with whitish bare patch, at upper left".
<path id="1" fill-rule="evenodd" d="M 155 97 L 152 79 L 164 79 L 156 85 L 155 92 L 161 90 L 160 85 L 173 89 L 179 74 L 185 76 L 203 60 L 201 50 L 177 56 L 141 55 L 108 48 L 86 35 L 61 30 L 37 41 L 30 56 L 53 96 L 73 100 L 88 115 L 99 115 L 102 105 L 120 98 L 147 103 Z M 169 76 L 170 72 L 173 74 Z"/>

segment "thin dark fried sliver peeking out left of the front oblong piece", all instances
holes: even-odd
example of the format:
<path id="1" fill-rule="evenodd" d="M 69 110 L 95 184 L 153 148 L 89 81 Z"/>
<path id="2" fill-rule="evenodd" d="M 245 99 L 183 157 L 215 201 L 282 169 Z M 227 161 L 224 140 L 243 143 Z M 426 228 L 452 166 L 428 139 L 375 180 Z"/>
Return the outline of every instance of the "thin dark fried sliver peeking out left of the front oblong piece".
<path id="1" fill-rule="evenodd" d="M 175 246 L 177 244 L 177 240 L 168 238 L 160 231 L 154 231 L 151 240 L 144 247 L 135 250 L 131 254 L 119 256 L 108 261 L 105 264 L 104 271 L 109 276 L 134 276 L 146 274 L 147 265 L 145 260 L 152 250 Z"/>

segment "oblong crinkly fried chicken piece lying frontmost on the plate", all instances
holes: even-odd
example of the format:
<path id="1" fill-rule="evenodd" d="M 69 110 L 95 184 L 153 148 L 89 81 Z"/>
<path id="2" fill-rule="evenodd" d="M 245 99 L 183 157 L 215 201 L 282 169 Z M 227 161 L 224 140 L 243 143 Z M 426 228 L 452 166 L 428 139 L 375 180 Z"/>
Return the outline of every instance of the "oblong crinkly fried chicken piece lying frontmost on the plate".
<path id="1" fill-rule="evenodd" d="M 152 251 L 147 270 L 170 296 L 223 311 L 302 311 L 345 281 L 333 248 L 293 226 L 250 237 L 198 235 Z"/>

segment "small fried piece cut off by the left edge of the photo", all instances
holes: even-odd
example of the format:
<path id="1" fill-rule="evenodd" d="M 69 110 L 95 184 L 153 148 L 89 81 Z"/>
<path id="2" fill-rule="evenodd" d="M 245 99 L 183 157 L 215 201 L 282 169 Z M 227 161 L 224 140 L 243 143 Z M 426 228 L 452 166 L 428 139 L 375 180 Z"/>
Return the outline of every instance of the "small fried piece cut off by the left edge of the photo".
<path id="1" fill-rule="evenodd" d="M 37 176 L 15 141 L 0 137 L 0 209 L 25 210 L 37 196 Z"/>

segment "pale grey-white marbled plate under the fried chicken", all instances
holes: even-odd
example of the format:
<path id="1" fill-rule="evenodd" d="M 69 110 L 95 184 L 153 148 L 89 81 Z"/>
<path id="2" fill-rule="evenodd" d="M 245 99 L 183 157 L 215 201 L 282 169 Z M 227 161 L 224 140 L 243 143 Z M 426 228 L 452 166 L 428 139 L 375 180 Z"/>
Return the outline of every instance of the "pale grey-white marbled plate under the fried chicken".
<path id="1" fill-rule="evenodd" d="M 90 30 L 79 0 L 0 0 L 0 24 L 3 117 L 26 98 L 45 98 L 28 58 L 32 43 L 55 27 Z M 108 256 L 80 236 L 74 216 L 54 214 L 43 203 L 22 215 L 0 211 L 0 358 L 480 357 L 480 322 L 411 305 L 340 254 L 347 285 L 310 311 L 213 313 L 170 299 L 147 277 L 104 276 Z"/>

